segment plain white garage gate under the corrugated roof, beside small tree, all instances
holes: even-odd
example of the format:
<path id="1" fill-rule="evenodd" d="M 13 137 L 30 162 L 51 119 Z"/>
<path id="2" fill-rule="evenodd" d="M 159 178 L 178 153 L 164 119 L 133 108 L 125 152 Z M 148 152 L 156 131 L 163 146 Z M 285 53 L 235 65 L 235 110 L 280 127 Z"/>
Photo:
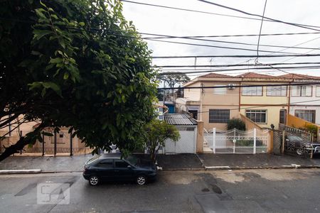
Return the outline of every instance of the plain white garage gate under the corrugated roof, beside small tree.
<path id="1" fill-rule="evenodd" d="M 176 142 L 166 140 L 164 153 L 196 153 L 197 127 L 176 126 L 180 139 Z"/>

